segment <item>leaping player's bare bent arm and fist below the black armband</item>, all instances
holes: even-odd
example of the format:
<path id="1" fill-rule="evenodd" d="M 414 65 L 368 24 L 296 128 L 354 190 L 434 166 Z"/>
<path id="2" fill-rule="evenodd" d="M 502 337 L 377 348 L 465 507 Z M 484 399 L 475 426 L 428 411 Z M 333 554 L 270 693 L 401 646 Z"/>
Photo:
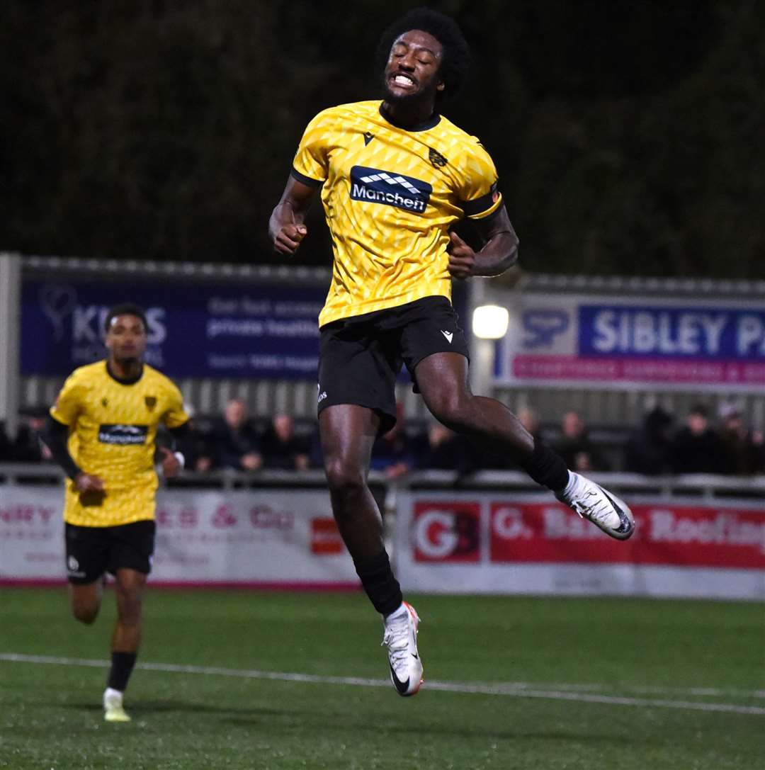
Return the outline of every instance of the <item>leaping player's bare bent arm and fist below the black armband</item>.
<path id="1" fill-rule="evenodd" d="M 450 233 L 449 273 L 463 280 L 471 276 L 499 276 L 518 261 L 518 236 L 502 206 L 487 221 L 474 220 L 483 247 L 473 251 L 456 233 Z"/>

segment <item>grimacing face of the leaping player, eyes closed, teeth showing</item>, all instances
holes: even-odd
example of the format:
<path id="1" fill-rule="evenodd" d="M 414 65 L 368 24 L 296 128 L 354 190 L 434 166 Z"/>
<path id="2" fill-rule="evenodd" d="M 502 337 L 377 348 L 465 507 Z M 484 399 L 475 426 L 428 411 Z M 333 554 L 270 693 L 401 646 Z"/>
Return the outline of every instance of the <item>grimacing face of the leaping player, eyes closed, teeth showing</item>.
<path id="1" fill-rule="evenodd" d="M 390 49 L 383 77 L 386 99 L 390 102 L 409 102 L 436 98 L 443 91 L 439 66 L 443 46 L 427 32 L 410 29 L 399 35 Z"/>

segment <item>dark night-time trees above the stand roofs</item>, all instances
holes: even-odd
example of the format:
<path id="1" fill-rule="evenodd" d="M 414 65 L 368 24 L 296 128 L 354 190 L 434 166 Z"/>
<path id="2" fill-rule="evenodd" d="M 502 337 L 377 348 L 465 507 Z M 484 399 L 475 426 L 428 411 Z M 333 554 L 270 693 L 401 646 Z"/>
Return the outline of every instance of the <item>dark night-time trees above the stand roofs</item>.
<path id="1" fill-rule="evenodd" d="M 411 3 L 5 0 L 0 249 L 276 262 L 306 122 Z M 765 277 L 765 4 L 434 2 L 534 272 Z M 299 259 L 328 263 L 319 234 Z"/>

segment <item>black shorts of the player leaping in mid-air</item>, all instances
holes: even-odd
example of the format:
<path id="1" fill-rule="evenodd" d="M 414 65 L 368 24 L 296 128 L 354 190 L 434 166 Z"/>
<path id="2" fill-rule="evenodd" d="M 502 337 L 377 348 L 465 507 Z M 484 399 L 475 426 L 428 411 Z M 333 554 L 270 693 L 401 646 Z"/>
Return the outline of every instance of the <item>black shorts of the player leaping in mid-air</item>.
<path id="1" fill-rule="evenodd" d="M 319 336 L 319 413 L 354 403 L 382 417 L 380 433 L 396 424 L 396 377 L 406 364 L 417 383 L 417 364 L 433 353 L 468 358 L 465 333 L 445 296 L 332 321 Z"/>

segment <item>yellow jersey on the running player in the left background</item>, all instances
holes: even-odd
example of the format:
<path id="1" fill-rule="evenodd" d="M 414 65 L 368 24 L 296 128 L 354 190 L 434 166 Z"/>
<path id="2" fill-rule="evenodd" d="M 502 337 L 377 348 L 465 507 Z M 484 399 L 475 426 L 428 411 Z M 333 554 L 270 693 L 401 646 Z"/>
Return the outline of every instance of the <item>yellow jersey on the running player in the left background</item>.
<path id="1" fill-rule="evenodd" d="M 157 426 L 179 427 L 189 419 L 175 384 L 147 364 L 139 380 L 122 383 L 98 361 L 72 372 L 51 415 L 68 425 L 75 463 L 105 487 L 103 495 L 80 494 L 67 480 L 64 520 L 112 527 L 154 518 Z"/>

